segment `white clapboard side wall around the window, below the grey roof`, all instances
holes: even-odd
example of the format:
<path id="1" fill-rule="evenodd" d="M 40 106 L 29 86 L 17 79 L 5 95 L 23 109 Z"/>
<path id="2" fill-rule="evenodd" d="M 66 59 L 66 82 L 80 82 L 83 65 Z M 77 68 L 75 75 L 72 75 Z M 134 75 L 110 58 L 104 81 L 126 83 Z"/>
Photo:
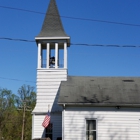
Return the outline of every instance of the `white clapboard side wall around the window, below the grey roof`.
<path id="1" fill-rule="evenodd" d="M 97 119 L 97 140 L 140 140 L 140 109 L 66 107 L 64 119 L 64 140 L 86 140 L 86 119 Z"/>

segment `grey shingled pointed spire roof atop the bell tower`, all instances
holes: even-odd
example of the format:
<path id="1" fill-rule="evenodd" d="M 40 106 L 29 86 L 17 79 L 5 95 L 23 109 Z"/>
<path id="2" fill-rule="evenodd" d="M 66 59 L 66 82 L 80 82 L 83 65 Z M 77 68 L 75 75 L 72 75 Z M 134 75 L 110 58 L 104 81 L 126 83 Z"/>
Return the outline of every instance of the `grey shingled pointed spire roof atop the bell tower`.
<path id="1" fill-rule="evenodd" d="M 41 29 L 40 34 L 36 37 L 68 37 L 70 38 L 64 31 L 59 11 L 56 5 L 55 0 L 50 0 L 50 4 L 44 19 L 44 23 Z"/>

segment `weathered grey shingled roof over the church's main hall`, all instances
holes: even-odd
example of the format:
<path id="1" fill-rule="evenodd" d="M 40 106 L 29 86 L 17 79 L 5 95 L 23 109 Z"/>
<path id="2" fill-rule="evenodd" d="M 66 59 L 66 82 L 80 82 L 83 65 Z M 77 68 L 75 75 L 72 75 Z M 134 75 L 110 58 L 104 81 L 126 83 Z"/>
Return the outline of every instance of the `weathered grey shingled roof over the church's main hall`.
<path id="1" fill-rule="evenodd" d="M 59 94 L 58 104 L 140 106 L 140 78 L 68 77 Z"/>

